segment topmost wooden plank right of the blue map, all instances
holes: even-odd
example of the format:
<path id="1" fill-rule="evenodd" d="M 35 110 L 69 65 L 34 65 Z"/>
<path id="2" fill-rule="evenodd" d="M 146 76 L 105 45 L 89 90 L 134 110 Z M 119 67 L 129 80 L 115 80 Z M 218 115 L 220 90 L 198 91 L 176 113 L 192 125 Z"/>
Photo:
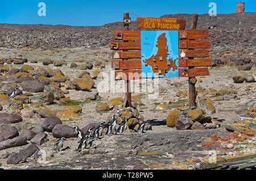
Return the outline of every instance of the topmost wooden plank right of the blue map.
<path id="1" fill-rule="evenodd" d="M 180 30 L 179 31 L 180 39 L 208 39 L 209 31 L 208 30 Z"/>

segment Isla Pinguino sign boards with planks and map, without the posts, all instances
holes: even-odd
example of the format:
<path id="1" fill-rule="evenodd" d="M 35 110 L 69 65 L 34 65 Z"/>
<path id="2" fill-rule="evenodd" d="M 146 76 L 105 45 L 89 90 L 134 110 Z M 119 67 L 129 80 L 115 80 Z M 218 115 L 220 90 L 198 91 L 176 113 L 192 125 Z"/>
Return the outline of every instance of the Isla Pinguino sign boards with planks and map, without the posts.
<path id="1" fill-rule="evenodd" d="M 137 25 L 160 30 L 114 30 L 110 48 L 116 80 L 209 75 L 204 67 L 212 64 L 208 30 L 184 30 L 182 18 L 137 17 Z"/>

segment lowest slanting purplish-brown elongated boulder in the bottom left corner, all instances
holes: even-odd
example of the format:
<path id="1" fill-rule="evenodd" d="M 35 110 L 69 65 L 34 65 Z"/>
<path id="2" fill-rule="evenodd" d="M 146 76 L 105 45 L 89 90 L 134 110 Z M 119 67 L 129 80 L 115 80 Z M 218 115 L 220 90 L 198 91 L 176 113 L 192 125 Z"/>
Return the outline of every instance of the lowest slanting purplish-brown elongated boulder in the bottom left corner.
<path id="1" fill-rule="evenodd" d="M 24 163 L 27 161 L 28 157 L 31 157 L 39 148 L 36 145 L 30 145 L 26 149 L 21 149 L 19 153 L 12 155 L 7 159 L 7 164 L 18 164 Z"/>

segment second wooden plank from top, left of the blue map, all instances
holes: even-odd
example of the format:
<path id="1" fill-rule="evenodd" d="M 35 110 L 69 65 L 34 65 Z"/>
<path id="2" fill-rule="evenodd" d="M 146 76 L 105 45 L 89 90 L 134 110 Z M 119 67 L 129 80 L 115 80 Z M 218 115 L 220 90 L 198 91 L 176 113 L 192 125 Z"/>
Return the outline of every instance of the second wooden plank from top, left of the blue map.
<path id="1" fill-rule="evenodd" d="M 140 50 L 141 42 L 111 41 L 110 49 L 112 49 L 112 50 Z"/>

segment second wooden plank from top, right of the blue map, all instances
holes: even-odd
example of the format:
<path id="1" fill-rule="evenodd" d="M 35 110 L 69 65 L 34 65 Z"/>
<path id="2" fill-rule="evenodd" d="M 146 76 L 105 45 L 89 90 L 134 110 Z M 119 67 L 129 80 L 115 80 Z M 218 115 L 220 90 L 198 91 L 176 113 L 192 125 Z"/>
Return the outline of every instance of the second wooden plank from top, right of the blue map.
<path id="1" fill-rule="evenodd" d="M 179 48 L 210 49 L 208 40 L 179 40 Z"/>

